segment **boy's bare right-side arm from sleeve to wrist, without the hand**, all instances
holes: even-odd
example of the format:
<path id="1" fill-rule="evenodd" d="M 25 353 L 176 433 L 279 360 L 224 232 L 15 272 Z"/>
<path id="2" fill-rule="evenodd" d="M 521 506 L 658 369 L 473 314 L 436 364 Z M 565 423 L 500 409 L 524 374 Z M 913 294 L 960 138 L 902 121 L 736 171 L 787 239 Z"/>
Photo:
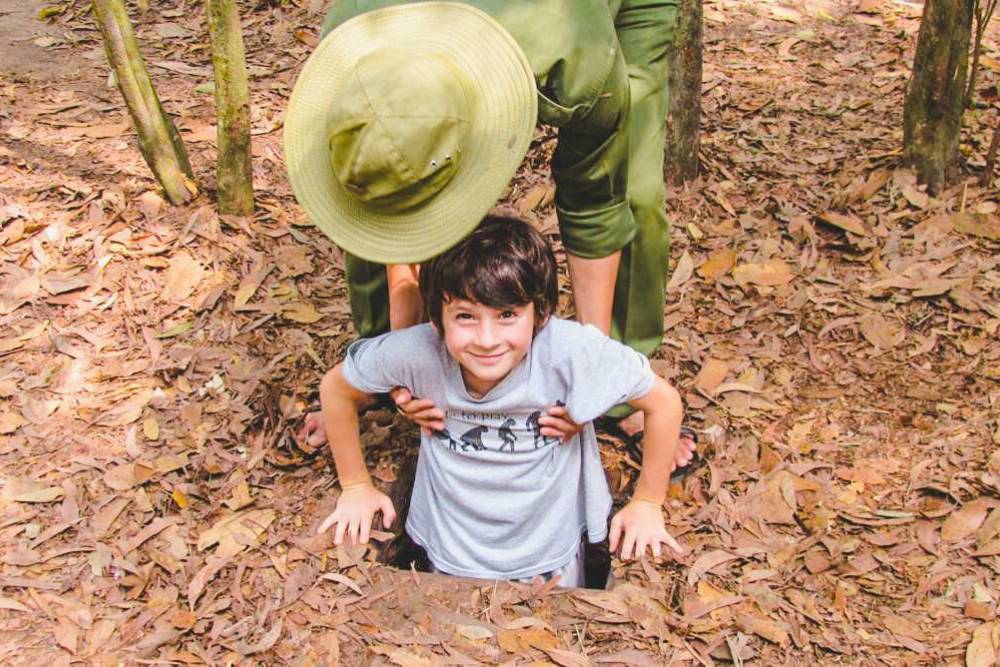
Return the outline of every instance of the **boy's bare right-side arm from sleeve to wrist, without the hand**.
<path id="1" fill-rule="evenodd" d="M 681 408 L 677 390 L 658 379 L 654 389 L 633 403 L 645 413 L 642 468 L 632 497 L 662 504 L 673 472 L 680 433 Z"/>

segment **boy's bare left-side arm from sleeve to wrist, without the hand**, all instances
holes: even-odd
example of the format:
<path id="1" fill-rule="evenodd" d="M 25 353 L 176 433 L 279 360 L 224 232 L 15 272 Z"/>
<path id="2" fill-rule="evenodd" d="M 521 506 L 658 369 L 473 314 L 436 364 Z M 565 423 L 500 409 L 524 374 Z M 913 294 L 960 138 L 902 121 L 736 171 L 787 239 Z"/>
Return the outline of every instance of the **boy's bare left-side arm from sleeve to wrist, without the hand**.
<path id="1" fill-rule="evenodd" d="M 323 377 L 319 389 L 323 428 L 342 487 L 370 482 L 358 427 L 358 409 L 370 397 L 344 380 L 338 365 Z"/>

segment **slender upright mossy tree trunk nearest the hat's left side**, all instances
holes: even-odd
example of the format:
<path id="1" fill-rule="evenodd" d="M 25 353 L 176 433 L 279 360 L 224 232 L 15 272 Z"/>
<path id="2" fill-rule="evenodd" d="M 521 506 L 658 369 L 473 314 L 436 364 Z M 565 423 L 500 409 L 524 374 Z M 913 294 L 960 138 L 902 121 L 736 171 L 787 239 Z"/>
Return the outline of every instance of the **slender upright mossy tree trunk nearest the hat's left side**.
<path id="1" fill-rule="evenodd" d="M 219 118 L 216 179 L 219 212 L 253 213 L 250 161 L 250 85 L 243 31 L 236 0 L 205 0 L 215 69 L 215 106 Z"/>

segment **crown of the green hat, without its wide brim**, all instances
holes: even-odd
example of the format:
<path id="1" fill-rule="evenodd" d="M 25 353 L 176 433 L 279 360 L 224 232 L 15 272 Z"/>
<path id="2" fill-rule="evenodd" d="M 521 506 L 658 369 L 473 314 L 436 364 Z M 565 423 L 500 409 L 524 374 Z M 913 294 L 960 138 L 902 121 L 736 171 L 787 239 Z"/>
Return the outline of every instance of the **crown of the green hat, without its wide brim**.
<path id="1" fill-rule="evenodd" d="M 402 211 L 454 176 L 472 117 L 470 87 L 443 56 L 396 47 L 361 58 L 333 100 L 333 172 L 368 205 Z"/>

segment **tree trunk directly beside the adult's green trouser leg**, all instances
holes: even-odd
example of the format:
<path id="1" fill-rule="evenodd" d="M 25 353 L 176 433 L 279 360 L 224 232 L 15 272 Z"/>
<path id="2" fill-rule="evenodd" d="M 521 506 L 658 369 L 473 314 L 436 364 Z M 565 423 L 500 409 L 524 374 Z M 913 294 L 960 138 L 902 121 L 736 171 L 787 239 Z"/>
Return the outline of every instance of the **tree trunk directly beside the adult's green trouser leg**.
<path id="1" fill-rule="evenodd" d="M 672 183 L 698 175 L 701 125 L 702 0 L 679 0 L 670 55 L 670 109 L 664 171 Z"/>

